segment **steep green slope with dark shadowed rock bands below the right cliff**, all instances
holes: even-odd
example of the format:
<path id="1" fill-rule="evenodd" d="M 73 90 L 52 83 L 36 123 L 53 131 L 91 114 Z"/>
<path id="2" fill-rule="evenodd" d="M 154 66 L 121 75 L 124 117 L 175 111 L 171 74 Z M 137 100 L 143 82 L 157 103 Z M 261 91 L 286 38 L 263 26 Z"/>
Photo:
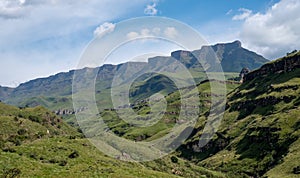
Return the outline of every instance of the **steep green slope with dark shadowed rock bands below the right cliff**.
<path id="1" fill-rule="evenodd" d="M 299 103 L 299 68 L 248 81 L 229 94 L 214 139 L 195 153 L 188 146 L 197 143 L 198 132 L 180 149 L 181 156 L 229 177 L 297 177 Z"/>

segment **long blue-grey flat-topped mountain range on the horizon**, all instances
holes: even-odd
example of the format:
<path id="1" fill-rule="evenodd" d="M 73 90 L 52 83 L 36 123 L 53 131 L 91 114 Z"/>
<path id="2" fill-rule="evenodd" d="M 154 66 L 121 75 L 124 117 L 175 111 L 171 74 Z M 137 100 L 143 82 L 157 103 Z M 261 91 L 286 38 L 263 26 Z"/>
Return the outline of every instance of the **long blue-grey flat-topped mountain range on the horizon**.
<path id="1" fill-rule="evenodd" d="M 214 57 L 215 54 L 217 57 Z M 201 61 L 201 64 L 198 59 Z M 150 58 L 148 63 L 130 62 L 119 65 L 105 64 L 97 68 L 80 69 L 77 72 L 85 73 L 87 70 L 90 70 L 91 72 L 98 71 L 96 89 L 98 93 L 101 93 L 105 89 L 110 88 L 112 79 L 116 73 L 124 80 L 124 82 L 126 82 L 127 80 L 130 80 L 130 77 L 137 76 L 145 70 L 163 70 L 166 72 L 180 71 L 181 69 L 175 64 L 176 60 L 177 62 L 179 61 L 184 64 L 190 71 L 193 71 L 192 73 L 195 74 L 194 77 L 196 78 L 196 82 L 204 80 L 204 69 L 206 71 L 215 71 L 215 63 L 220 63 L 224 72 L 240 72 L 244 67 L 253 70 L 268 61 L 262 56 L 242 48 L 241 43 L 235 41 L 227 44 L 204 46 L 200 50 L 192 52 L 181 50 L 174 51 L 171 53 L 171 56 L 157 56 Z M 132 73 L 133 71 L 135 73 Z M 75 70 L 71 70 L 47 78 L 34 79 L 21 84 L 13 90 L 7 88 L 0 89 L 0 99 L 13 105 L 43 105 L 51 109 L 58 109 L 53 107 L 58 107 L 57 103 L 60 101 L 71 101 L 74 73 Z M 149 77 L 146 77 L 145 79 L 153 81 L 149 80 Z M 149 82 L 147 85 L 152 86 L 149 85 Z M 140 87 L 147 90 L 147 87 L 145 86 Z M 138 88 L 136 89 L 138 93 L 143 92 Z M 165 90 L 166 88 L 163 87 L 162 89 Z M 55 103 L 55 105 L 53 105 L 53 103 Z M 53 107 L 51 105 L 53 105 Z"/>

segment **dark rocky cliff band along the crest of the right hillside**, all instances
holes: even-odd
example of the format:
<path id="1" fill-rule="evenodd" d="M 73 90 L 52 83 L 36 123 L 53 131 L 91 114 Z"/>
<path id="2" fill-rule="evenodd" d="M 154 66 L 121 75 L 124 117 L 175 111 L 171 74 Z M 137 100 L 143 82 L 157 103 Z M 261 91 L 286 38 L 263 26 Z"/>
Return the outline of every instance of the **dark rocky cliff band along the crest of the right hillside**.
<path id="1" fill-rule="evenodd" d="M 263 65 L 260 69 L 245 75 L 244 81 L 250 81 L 267 74 L 290 72 L 296 68 L 300 68 L 300 52 Z"/>

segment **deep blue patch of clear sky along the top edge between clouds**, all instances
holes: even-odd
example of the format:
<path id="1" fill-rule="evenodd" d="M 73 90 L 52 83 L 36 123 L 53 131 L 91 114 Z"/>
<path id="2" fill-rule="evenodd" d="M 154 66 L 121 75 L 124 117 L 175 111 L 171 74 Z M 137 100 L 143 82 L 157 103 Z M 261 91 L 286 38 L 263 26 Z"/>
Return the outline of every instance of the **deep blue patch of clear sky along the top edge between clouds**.
<path id="1" fill-rule="evenodd" d="M 207 21 L 230 20 L 231 16 L 226 16 L 226 13 L 237 11 L 240 8 L 265 11 L 270 4 L 273 2 L 269 0 L 164 0 L 158 3 L 157 8 L 159 15 L 169 16 L 197 26 L 205 25 Z"/>

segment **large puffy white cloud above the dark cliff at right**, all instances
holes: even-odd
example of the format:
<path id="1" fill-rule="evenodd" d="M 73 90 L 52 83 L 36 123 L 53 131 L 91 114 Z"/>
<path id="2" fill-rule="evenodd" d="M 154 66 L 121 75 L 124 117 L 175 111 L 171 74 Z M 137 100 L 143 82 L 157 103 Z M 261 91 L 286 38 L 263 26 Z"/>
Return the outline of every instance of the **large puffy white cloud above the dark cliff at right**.
<path id="1" fill-rule="evenodd" d="M 300 49 L 300 1 L 281 0 L 266 13 L 256 13 L 243 22 L 240 38 L 245 46 L 275 59 Z"/>

